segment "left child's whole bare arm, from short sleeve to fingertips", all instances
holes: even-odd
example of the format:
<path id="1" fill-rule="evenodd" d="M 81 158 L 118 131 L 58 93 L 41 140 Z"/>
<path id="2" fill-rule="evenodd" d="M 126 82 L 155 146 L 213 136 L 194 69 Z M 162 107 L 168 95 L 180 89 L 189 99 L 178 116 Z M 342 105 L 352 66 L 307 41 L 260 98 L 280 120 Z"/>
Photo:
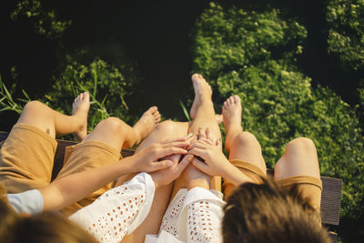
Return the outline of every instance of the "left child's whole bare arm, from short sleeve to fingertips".
<path id="1" fill-rule="evenodd" d="M 171 167 L 171 161 L 157 160 L 171 154 L 186 154 L 187 151 L 182 147 L 189 144 L 186 137 L 153 144 L 136 155 L 116 163 L 56 179 L 48 186 L 39 188 L 44 200 L 43 210 L 65 208 L 122 175 Z"/>

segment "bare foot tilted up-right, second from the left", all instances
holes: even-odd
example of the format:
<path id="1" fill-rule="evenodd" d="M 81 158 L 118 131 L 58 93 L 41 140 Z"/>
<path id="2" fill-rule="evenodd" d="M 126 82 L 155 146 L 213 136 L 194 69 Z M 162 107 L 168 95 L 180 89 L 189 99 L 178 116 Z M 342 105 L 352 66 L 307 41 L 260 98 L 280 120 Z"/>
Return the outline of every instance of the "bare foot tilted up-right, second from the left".
<path id="1" fill-rule="evenodd" d="M 157 106 L 151 106 L 136 122 L 133 129 L 136 132 L 136 144 L 140 143 L 160 122 L 160 114 Z"/>

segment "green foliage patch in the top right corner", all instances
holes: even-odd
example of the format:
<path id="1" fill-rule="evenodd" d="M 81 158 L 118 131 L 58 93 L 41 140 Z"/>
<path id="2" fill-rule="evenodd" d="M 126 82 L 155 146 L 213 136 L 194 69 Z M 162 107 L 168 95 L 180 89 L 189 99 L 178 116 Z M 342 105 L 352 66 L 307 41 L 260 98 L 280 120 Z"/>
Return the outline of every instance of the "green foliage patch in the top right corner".
<path id="1" fill-rule="evenodd" d="M 337 54 L 344 66 L 364 66 L 364 1 L 329 0 L 329 53 Z"/>

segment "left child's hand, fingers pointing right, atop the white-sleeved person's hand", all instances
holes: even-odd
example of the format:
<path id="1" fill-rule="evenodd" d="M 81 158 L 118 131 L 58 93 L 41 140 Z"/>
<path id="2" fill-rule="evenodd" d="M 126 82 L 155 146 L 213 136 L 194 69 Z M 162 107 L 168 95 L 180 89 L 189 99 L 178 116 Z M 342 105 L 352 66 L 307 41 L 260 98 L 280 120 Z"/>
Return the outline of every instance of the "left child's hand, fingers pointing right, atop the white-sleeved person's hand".
<path id="1" fill-rule="evenodd" d="M 169 155 L 186 155 L 185 147 L 191 144 L 194 137 L 180 137 L 152 144 L 133 156 L 134 172 L 153 172 L 159 169 L 172 167 L 170 160 L 160 160 Z"/>

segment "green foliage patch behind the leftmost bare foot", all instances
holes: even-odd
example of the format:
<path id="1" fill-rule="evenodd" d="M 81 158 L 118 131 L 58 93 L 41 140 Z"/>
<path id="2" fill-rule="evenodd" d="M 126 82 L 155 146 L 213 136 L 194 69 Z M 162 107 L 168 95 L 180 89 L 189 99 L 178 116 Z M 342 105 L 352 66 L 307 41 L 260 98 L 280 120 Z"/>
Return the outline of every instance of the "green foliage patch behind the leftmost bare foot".
<path id="1" fill-rule="evenodd" d="M 68 56 L 66 70 L 55 77 L 52 89 L 45 95 L 45 102 L 59 111 L 70 114 L 72 100 L 81 92 L 91 96 L 88 115 L 88 129 L 108 116 L 116 116 L 126 122 L 134 121 L 130 116 L 124 97 L 132 94 L 135 80 L 126 80 L 122 75 L 123 66 L 116 67 L 96 59 L 83 65 Z M 65 102 L 66 101 L 66 102 Z"/>

